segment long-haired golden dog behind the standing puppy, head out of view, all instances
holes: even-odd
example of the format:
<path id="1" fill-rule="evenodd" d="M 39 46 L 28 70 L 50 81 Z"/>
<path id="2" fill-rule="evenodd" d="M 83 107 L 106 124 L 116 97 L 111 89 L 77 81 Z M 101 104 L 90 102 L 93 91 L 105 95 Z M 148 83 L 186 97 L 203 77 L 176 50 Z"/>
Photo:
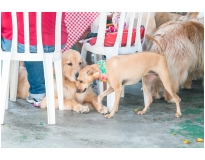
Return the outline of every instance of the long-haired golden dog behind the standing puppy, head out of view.
<path id="1" fill-rule="evenodd" d="M 149 41 L 146 50 L 164 55 L 170 72 L 174 91 L 182 88 L 191 89 L 193 78 L 204 77 L 204 25 L 197 21 L 168 22 L 153 34 L 162 50 Z M 153 96 L 160 98 L 159 80 L 152 87 Z M 159 88 L 158 88 L 159 87 Z M 164 90 L 168 102 L 175 102 Z"/>

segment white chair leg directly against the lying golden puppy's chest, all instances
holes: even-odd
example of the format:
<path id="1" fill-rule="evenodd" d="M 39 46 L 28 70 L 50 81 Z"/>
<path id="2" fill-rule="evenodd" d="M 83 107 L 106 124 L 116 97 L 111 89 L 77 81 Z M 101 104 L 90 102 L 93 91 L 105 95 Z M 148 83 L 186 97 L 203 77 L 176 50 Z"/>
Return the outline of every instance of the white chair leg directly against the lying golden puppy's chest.
<path id="1" fill-rule="evenodd" d="M 54 66 L 55 66 L 56 85 L 57 85 L 57 92 L 58 92 L 59 110 L 63 110 L 64 109 L 64 104 L 63 104 L 63 79 L 62 79 L 62 62 L 61 62 L 61 59 L 55 61 Z"/>

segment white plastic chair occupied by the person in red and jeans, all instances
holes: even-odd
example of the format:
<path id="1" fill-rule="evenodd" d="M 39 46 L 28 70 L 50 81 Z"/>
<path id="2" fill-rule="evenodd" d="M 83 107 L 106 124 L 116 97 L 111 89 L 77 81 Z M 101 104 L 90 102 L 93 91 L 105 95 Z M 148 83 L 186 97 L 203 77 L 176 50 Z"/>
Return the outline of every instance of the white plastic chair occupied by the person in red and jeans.
<path id="1" fill-rule="evenodd" d="M 63 110 L 63 85 L 62 85 L 62 64 L 61 64 L 61 18 L 62 13 L 56 13 L 55 28 L 55 51 L 44 53 L 42 44 L 41 12 L 36 13 L 37 24 L 37 53 L 30 53 L 29 50 L 29 13 L 24 12 L 24 45 L 25 52 L 17 52 L 17 16 L 12 12 L 13 37 L 11 52 L 4 52 L 1 49 L 3 61 L 1 74 L 1 124 L 4 123 L 5 109 L 8 108 L 8 88 L 10 88 L 10 100 L 16 101 L 19 61 L 43 61 L 44 77 L 46 86 L 48 124 L 55 124 L 55 100 L 53 62 L 55 66 L 56 83 L 58 91 L 59 109 Z M 10 73 L 10 74 L 9 74 Z M 9 86 L 10 79 L 10 87 Z"/>

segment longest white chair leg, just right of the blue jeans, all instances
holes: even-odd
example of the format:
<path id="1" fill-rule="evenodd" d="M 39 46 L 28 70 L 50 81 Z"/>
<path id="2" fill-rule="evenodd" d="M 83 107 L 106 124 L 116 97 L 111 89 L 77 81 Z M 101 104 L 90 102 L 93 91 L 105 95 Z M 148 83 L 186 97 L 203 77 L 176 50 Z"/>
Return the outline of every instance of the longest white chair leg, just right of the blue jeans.
<path id="1" fill-rule="evenodd" d="M 53 81 L 53 54 L 44 53 L 44 76 L 46 84 L 46 102 L 48 124 L 55 124 L 55 100 L 54 100 L 54 81 Z"/>

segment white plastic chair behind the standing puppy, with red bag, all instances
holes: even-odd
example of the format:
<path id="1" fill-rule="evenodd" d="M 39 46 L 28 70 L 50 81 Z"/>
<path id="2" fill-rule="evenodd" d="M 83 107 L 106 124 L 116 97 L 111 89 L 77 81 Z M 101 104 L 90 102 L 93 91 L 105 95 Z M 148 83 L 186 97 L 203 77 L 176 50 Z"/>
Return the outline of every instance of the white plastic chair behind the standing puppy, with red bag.
<path id="1" fill-rule="evenodd" d="M 101 12 L 100 16 L 96 21 L 98 21 L 98 36 L 95 45 L 91 46 L 89 43 L 84 43 L 81 51 L 82 57 L 85 59 L 87 55 L 87 51 L 90 51 L 96 55 L 105 55 L 106 59 L 109 59 L 115 55 L 118 54 L 131 54 L 135 52 L 141 52 L 142 51 L 142 43 L 141 43 L 141 37 L 140 37 L 140 27 L 141 27 L 141 21 L 142 21 L 142 15 L 143 12 L 138 13 L 138 19 L 137 19 L 137 25 L 134 25 L 134 20 L 136 13 L 135 12 L 121 12 L 120 14 L 120 22 L 118 26 L 118 33 L 117 33 L 117 38 L 115 41 L 115 44 L 113 47 L 105 47 L 104 46 L 104 39 L 105 39 L 105 30 L 106 30 L 106 20 L 107 20 L 107 13 L 106 12 Z M 125 19 L 128 20 L 128 37 L 127 37 L 127 44 L 125 47 L 121 47 L 121 39 L 122 39 L 122 33 L 123 33 L 123 27 L 124 27 L 124 22 Z M 149 20 L 149 13 L 147 16 L 147 21 L 145 25 L 145 32 L 146 28 L 148 25 L 148 20 Z M 97 22 L 94 22 L 95 25 Z M 92 26 L 93 27 L 93 26 Z M 91 29 L 92 29 L 91 27 Z M 93 27 L 96 30 L 96 27 Z M 131 45 L 131 37 L 132 37 L 132 29 L 136 28 L 136 37 L 135 37 L 135 44 Z M 91 30 L 92 31 L 92 30 Z M 144 41 L 143 41 L 144 42 Z M 100 59 L 100 56 L 97 56 Z M 100 57 L 100 58 L 99 58 Z M 102 82 L 97 82 L 98 86 L 98 94 L 103 92 L 103 83 Z M 124 89 L 121 97 L 124 96 Z M 113 104 L 114 104 L 114 99 L 115 95 L 114 93 L 111 93 L 107 96 L 107 107 L 111 111 Z"/>

